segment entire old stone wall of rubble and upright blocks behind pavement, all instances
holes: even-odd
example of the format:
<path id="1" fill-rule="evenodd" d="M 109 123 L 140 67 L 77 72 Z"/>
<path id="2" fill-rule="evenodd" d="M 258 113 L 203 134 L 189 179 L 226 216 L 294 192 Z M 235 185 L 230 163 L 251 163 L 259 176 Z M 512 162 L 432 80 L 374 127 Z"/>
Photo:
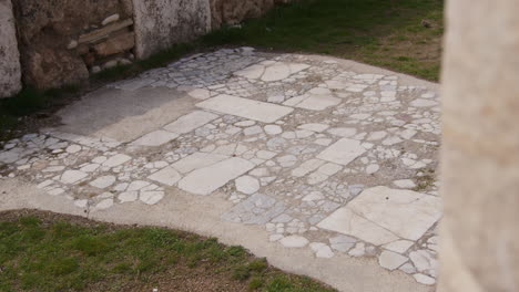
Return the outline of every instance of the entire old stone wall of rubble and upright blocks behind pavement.
<path id="1" fill-rule="evenodd" d="M 20 90 L 20 63 L 26 85 L 61 87 L 292 0 L 10 1 L 0 0 L 0 97 Z"/>

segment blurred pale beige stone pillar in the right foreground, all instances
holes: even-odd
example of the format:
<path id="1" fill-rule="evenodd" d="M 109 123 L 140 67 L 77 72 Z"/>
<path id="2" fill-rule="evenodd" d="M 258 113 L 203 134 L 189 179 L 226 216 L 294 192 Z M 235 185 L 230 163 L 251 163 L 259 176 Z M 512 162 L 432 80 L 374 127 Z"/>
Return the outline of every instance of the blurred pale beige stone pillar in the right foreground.
<path id="1" fill-rule="evenodd" d="M 519 1 L 449 0 L 438 291 L 519 291 Z"/>

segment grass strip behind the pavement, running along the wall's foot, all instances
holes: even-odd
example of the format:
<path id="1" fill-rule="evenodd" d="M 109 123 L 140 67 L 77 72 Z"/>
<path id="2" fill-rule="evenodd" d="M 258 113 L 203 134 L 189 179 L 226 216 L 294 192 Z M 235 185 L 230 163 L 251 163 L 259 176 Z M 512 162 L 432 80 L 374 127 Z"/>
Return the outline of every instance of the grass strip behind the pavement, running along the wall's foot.
<path id="1" fill-rule="evenodd" d="M 203 43 L 329 54 L 438 81 L 442 9 L 441 0 L 302 0 Z"/>

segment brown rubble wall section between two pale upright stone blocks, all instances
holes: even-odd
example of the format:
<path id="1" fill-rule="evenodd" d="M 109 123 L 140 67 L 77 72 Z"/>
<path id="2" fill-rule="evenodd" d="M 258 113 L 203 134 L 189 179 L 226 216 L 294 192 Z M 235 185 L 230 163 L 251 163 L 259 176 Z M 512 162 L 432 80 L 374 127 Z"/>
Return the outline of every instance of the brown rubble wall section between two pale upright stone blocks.
<path id="1" fill-rule="evenodd" d="M 14 15 L 26 84 L 78 83 L 131 56 L 131 0 L 17 0 Z"/>

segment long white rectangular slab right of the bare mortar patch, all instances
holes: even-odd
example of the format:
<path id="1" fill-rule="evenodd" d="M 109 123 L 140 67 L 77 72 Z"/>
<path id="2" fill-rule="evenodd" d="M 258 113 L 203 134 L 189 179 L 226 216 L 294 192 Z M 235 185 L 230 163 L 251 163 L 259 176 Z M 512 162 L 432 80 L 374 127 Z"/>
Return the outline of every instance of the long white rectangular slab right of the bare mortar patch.
<path id="1" fill-rule="evenodd" d="M 196 106 L 228 115 L 263 123 L 274 123 L 292 113 L 294 108 L 221 94 L 196 104 Z"/>

